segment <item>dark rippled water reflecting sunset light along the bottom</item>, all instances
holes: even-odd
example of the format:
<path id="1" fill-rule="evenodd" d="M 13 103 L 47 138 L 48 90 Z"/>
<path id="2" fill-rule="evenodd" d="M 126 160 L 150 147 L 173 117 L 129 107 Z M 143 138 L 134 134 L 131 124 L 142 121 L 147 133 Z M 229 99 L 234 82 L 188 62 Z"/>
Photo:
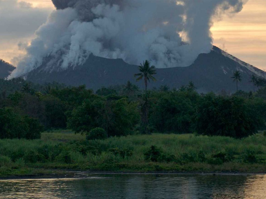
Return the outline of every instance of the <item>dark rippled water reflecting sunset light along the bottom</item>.
<path id="1" fill-rule="evenodd" d="M 0 180 L 0 198 L 266 198 L 266 175 L 91 174 Z"/>

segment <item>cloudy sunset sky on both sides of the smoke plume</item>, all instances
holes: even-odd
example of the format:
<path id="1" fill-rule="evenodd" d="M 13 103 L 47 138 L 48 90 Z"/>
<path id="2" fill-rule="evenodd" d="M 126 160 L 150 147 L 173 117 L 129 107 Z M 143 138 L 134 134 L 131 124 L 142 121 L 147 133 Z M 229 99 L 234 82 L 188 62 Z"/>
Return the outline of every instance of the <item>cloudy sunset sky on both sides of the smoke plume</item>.
<path id="1" fill-rule="evenodd" d="M 23 46 L 54 10 L 51 0 L 0 0 L 0 59 L 16 65 Z M 234 16 L 211 28 L 213 45 L 266 71 L 266 0 L 249 0 Z"/>

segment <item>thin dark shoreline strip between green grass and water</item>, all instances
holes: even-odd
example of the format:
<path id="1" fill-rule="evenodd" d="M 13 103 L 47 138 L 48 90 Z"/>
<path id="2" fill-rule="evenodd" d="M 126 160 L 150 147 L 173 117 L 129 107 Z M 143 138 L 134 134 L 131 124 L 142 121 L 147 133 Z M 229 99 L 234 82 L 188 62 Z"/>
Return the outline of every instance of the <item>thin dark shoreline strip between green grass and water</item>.
<path id="1" fill-rule="evenodd" d="M 25 174 L 25 175 L 10 175 L 0 176 L 1 180 L 38 180 L 38 179 L 84 179 L 90 178 L 91 175 L 266 175 L 266 172 L 180 172 L 180 171 L 149 171 L 149 172 L 136 172 L 136 171 L 72 171 L 72 170 L 52 170 L 55 173 L 45 174 Z M 60 172 L 60 173 L 56 173 Z"/>

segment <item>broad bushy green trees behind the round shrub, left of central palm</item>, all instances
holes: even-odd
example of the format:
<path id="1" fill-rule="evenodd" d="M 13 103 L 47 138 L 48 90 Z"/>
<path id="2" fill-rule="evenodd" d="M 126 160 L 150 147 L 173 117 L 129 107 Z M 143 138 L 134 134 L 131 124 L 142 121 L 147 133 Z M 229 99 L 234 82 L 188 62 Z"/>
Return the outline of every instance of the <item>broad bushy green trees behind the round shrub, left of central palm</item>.
<path id="1" fill-rule="evenodd" d="M 69 114 L 68 127 L 76 133 L 101 127 L 109 137 L 127 135 L 138 122 L 136 106 L 136 103 L 128 102 L 126 98 L 85 99 L 81 106 Z"/>

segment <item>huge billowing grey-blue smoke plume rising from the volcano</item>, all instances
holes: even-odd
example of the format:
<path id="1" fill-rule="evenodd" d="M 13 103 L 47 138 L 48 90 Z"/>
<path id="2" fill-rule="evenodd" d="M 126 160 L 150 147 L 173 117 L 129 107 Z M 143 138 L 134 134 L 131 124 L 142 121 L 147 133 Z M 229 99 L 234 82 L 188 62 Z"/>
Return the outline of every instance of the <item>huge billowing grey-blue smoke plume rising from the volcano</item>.
<path id="1" fill-rule="evenodd" d="M 157 68 L 189 66 L 212 48 L 213 18 L 242 9 L 241 0 L 52 0 L 57 10 L 36 30 L 9 78 L 45 63 L 82 65 L 90 54 Z"/>

